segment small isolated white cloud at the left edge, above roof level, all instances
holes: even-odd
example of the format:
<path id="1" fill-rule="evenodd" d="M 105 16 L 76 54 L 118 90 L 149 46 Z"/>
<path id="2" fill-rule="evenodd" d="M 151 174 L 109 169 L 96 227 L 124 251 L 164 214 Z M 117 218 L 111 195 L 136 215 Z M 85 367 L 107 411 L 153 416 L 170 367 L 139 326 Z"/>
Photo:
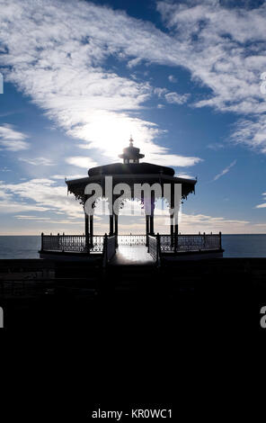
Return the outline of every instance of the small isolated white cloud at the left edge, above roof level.
<path id="1" fill-rule="evenodd" d="M 0 149 L 8 151 L 21 151 L 30 147 L 30 144 L 24 139 L 27 135 L 15 130 L 13 125 L 5 123 L 0 126 Z"/>

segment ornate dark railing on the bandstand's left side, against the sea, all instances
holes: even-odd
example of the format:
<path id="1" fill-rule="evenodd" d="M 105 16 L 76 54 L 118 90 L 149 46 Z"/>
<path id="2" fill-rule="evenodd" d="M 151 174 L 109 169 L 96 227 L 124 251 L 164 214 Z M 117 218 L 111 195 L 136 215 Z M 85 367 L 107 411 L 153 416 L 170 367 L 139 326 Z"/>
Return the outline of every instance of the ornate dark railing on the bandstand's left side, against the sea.
<path id="1" fill-rule="evenodd" d="M 61 251 L 61 252 L 102 252 L 103 236 L 94 235 L 93 239 L 87 241 L 84 235 L 43 235 L 41 234 L 42 251 Z"/>

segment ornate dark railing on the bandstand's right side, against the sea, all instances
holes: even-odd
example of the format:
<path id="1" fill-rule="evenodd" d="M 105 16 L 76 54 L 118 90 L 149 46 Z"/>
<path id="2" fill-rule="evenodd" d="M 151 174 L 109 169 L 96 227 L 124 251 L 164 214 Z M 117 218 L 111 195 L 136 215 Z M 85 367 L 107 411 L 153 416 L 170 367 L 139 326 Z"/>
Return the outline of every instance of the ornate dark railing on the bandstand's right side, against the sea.
<path id="1" fill-rule="evenodd" d="M 221 249 L 221 233 L 198 235 L 160 235 L 163 253 Z"/>

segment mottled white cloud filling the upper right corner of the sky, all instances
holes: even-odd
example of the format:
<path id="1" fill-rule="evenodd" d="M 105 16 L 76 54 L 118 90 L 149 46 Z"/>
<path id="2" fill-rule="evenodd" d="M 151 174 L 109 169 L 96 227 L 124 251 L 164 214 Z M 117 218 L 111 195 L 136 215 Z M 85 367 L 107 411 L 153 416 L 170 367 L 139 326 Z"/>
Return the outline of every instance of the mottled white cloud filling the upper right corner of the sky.
<path id="1" fill-rule="evenodd" d="M 180 64 L 195 82 L 210 88 L 194 105 L 251 114 L 252 120 L 239 121 L 232 140 L 265 154 L 266 97 L 260 88 L 266 69 L 266 3 L 244 8 L 218 0 L 162 1 L 157 9 L 182 46 Z"/>

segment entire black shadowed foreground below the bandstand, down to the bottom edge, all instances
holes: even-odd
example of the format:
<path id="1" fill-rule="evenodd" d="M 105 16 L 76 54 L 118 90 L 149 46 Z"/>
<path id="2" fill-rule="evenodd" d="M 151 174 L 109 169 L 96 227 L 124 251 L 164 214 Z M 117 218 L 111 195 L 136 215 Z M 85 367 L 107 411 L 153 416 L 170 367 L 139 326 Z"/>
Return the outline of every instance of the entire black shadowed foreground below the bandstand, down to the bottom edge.
<path id="1" fill-rule="evenodd" d="M 1 421 L 95 421 L 94 410 L 136 409 L 238 421 L 246 412 L 258 360 L 249 335 L 266 333 L 265 259 L 105 270 L 2 260 L 0 273 L 0 332 L 13 338 Z"/>

